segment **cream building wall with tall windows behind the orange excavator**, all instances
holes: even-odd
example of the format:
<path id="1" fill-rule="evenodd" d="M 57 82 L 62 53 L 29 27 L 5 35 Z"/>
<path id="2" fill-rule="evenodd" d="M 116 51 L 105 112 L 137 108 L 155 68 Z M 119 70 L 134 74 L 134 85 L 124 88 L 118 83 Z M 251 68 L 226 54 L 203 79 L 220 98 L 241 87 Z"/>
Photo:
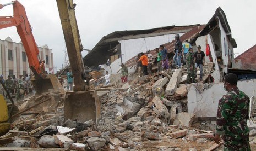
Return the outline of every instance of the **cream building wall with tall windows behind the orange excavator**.
<path id="1" fill-rule="evenodd" d="M 49 63 L 46 65 L 48 70 L 53 69 L 52 50 L 47 45 L 38 48 L 40 51 L 39 54 L 42 55 L 43 59 L 45 59 L 46 54 L 49 56 Z M 8 49 L 12 50 L 13 60 L 8 59 Z M 13 71 L 13 75 L 16 77 L 23 74 L 32 74 L 29 68 L 28 57 L 26 56 L 26 61 L 23 61 L 23 52 L 25 52 L 25 49 L 22 43 L 12 42 L 12 39 L 9 37 L 5 40 L 0 40 L 0 74 L 4 76 L 4 79 L 10 74 L 9 70 Z"/>

